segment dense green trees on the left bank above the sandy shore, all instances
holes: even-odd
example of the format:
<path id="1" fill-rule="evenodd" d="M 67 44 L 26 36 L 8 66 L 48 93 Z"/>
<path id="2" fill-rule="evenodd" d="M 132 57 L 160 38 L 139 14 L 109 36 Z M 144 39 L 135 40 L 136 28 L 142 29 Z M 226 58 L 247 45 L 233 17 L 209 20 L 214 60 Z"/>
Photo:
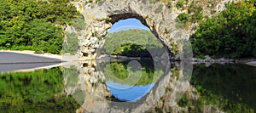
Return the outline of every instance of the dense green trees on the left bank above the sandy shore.
<path id="1" fill-rule="evenodd" d="M 76 17 L 71 0 L 0 0 L 0 48 L 60 54 L 61 25 Z"/>

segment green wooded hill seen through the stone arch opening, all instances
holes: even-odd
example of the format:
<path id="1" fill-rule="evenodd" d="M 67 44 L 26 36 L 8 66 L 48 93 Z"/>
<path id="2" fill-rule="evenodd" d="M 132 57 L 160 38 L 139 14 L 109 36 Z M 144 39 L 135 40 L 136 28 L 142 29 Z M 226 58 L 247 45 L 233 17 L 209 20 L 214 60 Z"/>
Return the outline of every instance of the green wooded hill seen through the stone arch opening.
<path id="1" fill-rule="evenodd" d="M 101 49 L 101 54 L 129 57 L 151 57 L 148 51 L 155 53 L 163 45 L 153 33 L 145 30 L 127 30 L 109 33 Z"/>

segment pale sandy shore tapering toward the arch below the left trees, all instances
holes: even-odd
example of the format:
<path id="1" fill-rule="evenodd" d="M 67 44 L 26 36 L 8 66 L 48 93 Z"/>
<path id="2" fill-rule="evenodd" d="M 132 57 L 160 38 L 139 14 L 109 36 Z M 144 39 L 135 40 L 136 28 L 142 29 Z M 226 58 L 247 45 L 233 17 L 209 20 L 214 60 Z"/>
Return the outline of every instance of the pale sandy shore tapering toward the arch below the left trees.
<path id="1" fill-rule="evenodd" d="M 40 57 L 42 59 L 24 59 L 24 58 L 20 58 L 17 59 L 13 56 L 10 56 L 10 59 L 6 59 L 2 60 L 2 62 L 0 62 L 0 66 L 9 66 L 9 65 L 14 65 L 9 67 L 9 69 L 6 69 L 7 71 L 1 71 L 1 73 L 10 73 L 10 72 L 27 72 L 27 71 L 36 71 L 36 70 L 42 70 L 42 69 L 50 69 L 50 68 L 54 68 L 54 67 L 58 67 L 63 65 L 63 63 L 67 62 L 68 60 L 63 60 L 63 55 L 59 55 L 59 54 L 49 54 L 49 53 L 45 53 L 45 54 L 36 54 L 34 51 L 31 50 L 0 50 L 0 53 L 9 53 L 9 54 L 23 54 L 23 55 L 30 55 L 32 57 Z M 6 55 L 5 55 L 6 56 Z M 15 59 L 14 59 L 15 58 Z M 25 61 L 25 62 L 24 62 Z M 50 65 L 42 65 L 42 64 L 48 64 L 51 63 Z M 23 69 L 23 66 L 21 66 L 21 68 L 17 68 L 17 66 L 15 65 L 37 65 L 34 67 L 26 67 Z M 39 65 L 41 64 L 41 65 Z"/>

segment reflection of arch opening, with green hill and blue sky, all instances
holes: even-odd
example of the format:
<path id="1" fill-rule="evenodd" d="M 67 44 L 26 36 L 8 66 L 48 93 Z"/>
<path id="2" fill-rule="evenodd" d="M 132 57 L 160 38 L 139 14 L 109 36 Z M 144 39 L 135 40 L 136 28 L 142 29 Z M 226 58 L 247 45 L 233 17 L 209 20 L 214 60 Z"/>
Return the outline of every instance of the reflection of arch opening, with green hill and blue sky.
<path id="1" fill-rule="evenodd" d="M 112 60 L 102 62 L 101 68 L 108 90 L 119 101 L 141 99 L 164 74 L 163 70 L 154 70 L 152 59 Z"/>

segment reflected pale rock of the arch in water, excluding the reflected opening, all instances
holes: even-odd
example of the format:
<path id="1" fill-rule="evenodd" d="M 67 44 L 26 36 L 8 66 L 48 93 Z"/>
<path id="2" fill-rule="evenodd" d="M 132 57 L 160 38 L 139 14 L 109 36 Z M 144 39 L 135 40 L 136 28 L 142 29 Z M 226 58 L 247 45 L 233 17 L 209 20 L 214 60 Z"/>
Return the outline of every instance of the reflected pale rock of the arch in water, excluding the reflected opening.
<path id="1" fill-rule="evenodd" d="M 88 66 L 81 68 L 84 63 Z M 73 98 L 81 105 L 80 110 L 83 111 L 144 112 L 160 103 L 163 104 L 163 102 L 167 108 L 176 107 L 175 105 L 182 98 L 183 93 L 188 88 L 190 89 L 191 63 L 165 64 L 165 62 L 159 62 L 158 66 L 165 68 L 160 78 L 152 81 L 155 82 L 154 87 L 136 101 L 120 102 L 109 99 L 109 97 L 113 97 L 113 93 L 110 92 L 107 85 L 110 78 L 104 71 L 94 68 L 95 65 L 104 64 L 103 61 L 87 60 L 76 62 L 76 64 L 72 68 L 66 68 L 63 75 L 66 80 L 67 93 L 73 95 Z"/>

